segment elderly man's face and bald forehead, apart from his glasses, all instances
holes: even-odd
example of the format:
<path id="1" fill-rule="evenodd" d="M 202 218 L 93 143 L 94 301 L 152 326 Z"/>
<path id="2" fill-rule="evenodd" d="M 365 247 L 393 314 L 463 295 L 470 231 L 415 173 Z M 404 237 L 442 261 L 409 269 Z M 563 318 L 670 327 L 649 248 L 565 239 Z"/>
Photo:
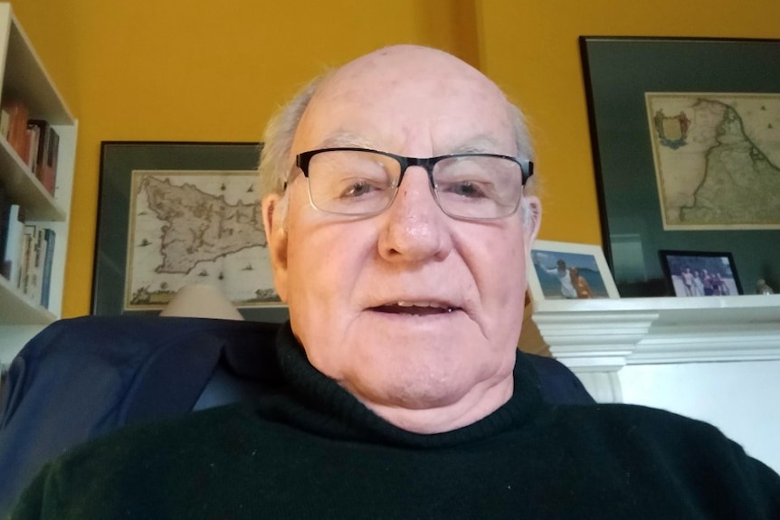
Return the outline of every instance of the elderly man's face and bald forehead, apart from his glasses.
<path id="1" fill-rule="evenodd" d="M 292 153 L 337 146 L 517 154 L 507 101 L 489 80 L 409 47 L 353 61 L 319 89 Z M 524 227 L 521 212 L 452 219 L 421 167 L 372 217 L 319 212 L 303 175 L 288 190 L 286 232 L 266 222 L 271 258 L 293 332 L 320 372 L 375 410 L 479 408 L 501 385 L 506 401 L 534 224 Z"/>

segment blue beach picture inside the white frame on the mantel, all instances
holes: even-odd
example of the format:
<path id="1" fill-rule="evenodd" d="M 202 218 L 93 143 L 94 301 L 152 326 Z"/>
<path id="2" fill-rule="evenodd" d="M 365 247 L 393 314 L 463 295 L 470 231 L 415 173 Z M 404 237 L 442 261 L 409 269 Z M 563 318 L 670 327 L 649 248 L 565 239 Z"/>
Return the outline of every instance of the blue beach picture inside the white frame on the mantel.
<path id="1" fill-rule="evenodd" d="M 563 251 L 531 251 L 546 299 L 610 298 L 595 256 Z"/>

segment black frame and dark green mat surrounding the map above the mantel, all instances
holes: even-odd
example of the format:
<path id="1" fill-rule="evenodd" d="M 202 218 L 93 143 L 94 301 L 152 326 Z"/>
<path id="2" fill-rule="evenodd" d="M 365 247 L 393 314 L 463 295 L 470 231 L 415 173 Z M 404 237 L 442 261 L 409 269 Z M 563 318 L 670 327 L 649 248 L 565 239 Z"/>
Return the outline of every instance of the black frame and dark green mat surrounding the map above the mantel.
<path id="1" fill-rule="evenodd" d="M 645 93 L 780 95 L 780 40 L 581 36 L 579 43 L 604 254 L 621 297 L 669 295 L 661 250 L 728 251 L 743 279 L 776 286 L 780 230 L 664 229 Z"/>

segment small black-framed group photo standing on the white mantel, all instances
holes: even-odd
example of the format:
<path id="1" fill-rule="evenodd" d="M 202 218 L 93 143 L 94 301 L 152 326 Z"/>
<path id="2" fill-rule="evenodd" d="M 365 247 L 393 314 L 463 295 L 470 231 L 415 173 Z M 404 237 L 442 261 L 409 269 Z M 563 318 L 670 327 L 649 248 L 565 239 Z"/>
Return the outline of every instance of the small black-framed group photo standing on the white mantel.
<path id="1" fill-rule="evenodd" d="M 680 297 L 742 294 L 728 252 L 659 251 L 671 294 Z"/>

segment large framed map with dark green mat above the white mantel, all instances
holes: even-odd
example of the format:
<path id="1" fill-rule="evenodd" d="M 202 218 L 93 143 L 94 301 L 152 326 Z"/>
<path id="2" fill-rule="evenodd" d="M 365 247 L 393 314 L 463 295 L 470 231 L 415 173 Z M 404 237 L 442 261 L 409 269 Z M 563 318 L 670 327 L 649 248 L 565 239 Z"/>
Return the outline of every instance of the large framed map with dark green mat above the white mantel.
<path id="1" fill-rule="evenodd" d="M 780 282 L 780 40 L 580 38 L 604 254 L 625 297 L 659 251 L 728 251 Z"/>

